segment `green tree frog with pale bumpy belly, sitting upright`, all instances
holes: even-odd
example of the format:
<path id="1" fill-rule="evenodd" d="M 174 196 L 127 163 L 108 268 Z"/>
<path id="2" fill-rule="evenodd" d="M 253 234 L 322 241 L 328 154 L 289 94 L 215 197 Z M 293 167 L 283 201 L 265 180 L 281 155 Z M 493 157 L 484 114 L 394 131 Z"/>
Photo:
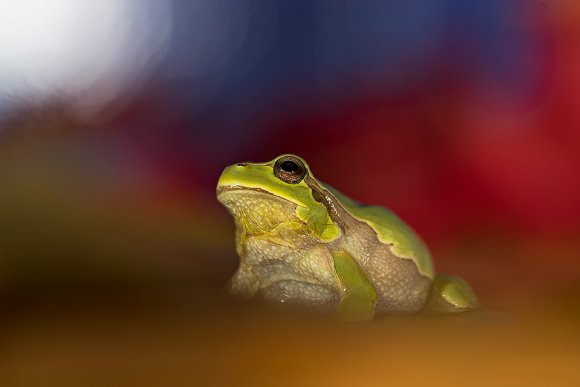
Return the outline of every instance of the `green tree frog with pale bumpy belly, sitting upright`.
<path id="1" fill-rule="evenodd" d="M 216 194 L 235 223 L 236 296 L 351 321 L 479 307 L 464 279 L 435 273 L 425 242 L 393 211 L 319 181 L 297 155 L 228 166 Z"/>

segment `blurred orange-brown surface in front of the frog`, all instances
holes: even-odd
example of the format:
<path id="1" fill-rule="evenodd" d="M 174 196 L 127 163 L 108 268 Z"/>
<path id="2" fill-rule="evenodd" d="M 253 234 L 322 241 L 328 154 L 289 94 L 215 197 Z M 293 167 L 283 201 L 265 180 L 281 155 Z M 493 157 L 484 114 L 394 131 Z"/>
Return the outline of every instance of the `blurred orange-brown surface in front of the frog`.
<path id="1" fill-rule="evenodd" d="M 3 386 L 514 385 L 580 382 L 574 319 L 339 324 L 212 298 L 4 316 Z M 111 305 L 113 304 L 113 305 Z"/>

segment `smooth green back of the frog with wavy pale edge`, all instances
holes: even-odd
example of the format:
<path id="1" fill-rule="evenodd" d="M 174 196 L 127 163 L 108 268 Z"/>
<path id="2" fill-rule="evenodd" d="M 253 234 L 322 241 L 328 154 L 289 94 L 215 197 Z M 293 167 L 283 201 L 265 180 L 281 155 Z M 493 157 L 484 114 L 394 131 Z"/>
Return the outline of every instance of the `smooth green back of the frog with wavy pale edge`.
<path id="1" fill-rule="evenodd" d="M 412 259 L 417 264 L 421 274 L 429 278 L 434 277 L 433 262 L 427 246 L 415 231 L 395 213 L 385 207 L 358 203 L 328 184 L 322 183 L 322 185 L 338 199 L 354 218 L 371 226 L 381 242 L 391 243 L 393 253 L 401 258 Z"/>

